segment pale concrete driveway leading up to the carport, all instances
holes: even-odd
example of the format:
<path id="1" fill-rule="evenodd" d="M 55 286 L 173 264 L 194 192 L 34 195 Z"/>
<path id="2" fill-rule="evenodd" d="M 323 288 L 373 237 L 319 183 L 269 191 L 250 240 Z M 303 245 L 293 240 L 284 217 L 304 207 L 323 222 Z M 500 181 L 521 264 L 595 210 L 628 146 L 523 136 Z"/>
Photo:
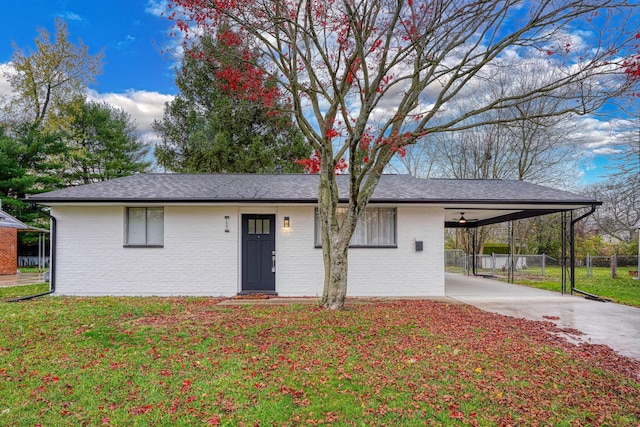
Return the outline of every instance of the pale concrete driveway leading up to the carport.
<path id="1" fill-rule="evenodd" d="M 582 341 L 640 360 L 640 308 L 452 273 L 445 289 L 448 297 L 485 311 L 577 329 Z"/>

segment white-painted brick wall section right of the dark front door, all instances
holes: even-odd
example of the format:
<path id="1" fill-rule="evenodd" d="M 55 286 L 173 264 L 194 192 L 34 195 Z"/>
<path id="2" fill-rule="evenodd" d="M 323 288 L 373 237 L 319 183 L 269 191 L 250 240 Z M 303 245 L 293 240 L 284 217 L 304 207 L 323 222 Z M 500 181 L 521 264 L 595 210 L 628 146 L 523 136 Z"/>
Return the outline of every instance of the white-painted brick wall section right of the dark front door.
<path id="1" fill-rule="evenodd" d="M 374 205 L 372 205 L 374 206 Z M 444 295 L 444 209 L 400 206 L 397 248 L 349 249 L 348 296 Z M 277 240 L 276 290 L 282 296 L 322 295 L 322 249 L 314 247 L 314 207 L 280 207 L 291 220 Z M 415 250 L 422 241 L 423 251 Z"/>

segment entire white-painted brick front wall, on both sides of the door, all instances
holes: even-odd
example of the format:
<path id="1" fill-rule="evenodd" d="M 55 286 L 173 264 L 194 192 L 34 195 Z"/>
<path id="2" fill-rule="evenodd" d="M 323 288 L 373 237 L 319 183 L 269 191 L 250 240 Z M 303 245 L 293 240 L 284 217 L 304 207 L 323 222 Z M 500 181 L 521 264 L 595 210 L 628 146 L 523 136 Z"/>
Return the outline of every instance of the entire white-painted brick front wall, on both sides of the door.
<path id="1" fill-rule="evenodd" d="M 165 206 L 163 248 L 123 247 L 124 212 L 55 207 L 59 294 L 233 296 L 241 289 L 241 215 L 269 213 L 276 215 L 276 291 L 322 295 L 314 206 Z M 444 295 L 444 209 L 400 206 L 397 223 L 397 248 L 349 251 L 349 296 Z"/>

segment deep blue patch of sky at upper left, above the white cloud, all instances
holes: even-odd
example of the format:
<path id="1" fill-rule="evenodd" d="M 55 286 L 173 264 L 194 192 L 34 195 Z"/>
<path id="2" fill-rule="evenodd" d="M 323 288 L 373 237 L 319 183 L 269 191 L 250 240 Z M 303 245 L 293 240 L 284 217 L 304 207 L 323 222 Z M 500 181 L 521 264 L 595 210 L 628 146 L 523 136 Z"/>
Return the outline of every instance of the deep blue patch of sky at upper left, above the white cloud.
<path id="1" fill-rule="evenodd" d="M 54 32 L 54 19 L 67 22 L 70 40 L 81 38 L 95 54 L 104 49 L 104 69 L 94 89 L 175 93 L 172 58 L 161 50 L 171 40 L 171 23 L 152 14 L 147 0 L 21 0 L 3 4 L 0 63 L 8 62 L 12 42 L 33 48 L 39 27 Z"/>

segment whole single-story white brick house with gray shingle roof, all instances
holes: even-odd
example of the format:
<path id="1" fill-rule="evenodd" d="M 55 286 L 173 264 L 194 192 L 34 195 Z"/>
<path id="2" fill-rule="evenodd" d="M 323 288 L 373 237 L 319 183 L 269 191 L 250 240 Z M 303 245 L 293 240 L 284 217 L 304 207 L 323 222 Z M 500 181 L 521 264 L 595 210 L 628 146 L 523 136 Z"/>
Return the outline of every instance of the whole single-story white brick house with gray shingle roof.
<path id="1" fill-rule="evenodd" d="M 29 201 L 51 207 L 56 294 L 316 296 L 317 184 L 315 175 L 149 174 Z M 462 213 L 477 226 L 595 204 L 517 181 L 385 175 L 352 240 L 348 295 L 444 295 L 444 227 L 461 226 Z"/>

